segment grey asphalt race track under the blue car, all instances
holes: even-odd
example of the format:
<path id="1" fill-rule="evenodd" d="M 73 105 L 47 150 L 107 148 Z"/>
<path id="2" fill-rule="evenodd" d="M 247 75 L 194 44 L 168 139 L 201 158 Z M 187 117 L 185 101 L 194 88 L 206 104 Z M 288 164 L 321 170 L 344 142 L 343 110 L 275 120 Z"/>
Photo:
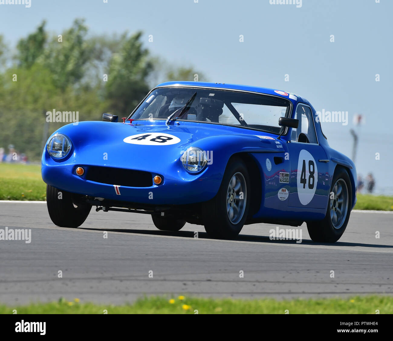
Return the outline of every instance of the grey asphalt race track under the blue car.
<path id="1" fill-rule="evenodd" d="M 268 224 L 245 226 L 238 240 L 212 240 L 203 226 L 164 232 L 149 215 L 94 209 L 79 229 L 64 229 L 52 224 L 45 203 L 0 202 L 1 229 L 31 229 L 29 244 L 0 240 L 0 303 L 65 297 L 121 304 L 165 293 L 278 299 L 391 295 L 392 221 L 392 213 L 352 212 L 333 245 L 314 244 L 305 224 L 301 244 L 270 240 L 275 225 Z"/>

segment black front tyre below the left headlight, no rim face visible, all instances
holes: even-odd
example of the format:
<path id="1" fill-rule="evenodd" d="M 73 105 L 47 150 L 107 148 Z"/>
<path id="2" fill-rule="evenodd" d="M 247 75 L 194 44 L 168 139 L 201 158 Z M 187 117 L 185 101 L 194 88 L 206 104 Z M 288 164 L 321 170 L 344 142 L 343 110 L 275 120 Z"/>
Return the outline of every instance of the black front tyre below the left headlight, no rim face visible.
<path id="1" fill-rule="evenodd" d="M 92 209 L 91 205 L 80 202 L 81 197 L 46 185 L 46 206 L 53 224 L 60 227 L 81 226 Z"/>

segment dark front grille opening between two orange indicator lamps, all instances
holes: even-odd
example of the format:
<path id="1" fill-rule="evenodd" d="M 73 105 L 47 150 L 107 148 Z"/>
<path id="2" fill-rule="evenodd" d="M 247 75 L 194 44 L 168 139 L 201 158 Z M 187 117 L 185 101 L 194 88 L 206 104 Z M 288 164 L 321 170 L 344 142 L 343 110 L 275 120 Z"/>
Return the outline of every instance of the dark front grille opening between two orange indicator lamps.
<path id="1" fill-rule="evenodd" d="M 127 187 L 151 187 L 153 185 L 152 175 L 149 172 L 113 167 L 88 167 L 86 180 Z"/>

